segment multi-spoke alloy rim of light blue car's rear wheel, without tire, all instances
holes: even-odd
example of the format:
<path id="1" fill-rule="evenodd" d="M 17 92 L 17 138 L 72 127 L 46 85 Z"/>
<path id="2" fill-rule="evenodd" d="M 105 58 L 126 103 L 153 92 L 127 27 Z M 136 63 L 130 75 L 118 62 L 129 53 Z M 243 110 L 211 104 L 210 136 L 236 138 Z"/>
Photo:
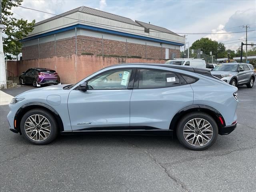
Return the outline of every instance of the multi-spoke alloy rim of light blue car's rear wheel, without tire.
<path id="1" fill-rule="evenodd" d="M 213 128 L 207 120 L 194 118 L 184 126 L 183 136 L 192 146 L 204 146 L 212 139 Z"/>

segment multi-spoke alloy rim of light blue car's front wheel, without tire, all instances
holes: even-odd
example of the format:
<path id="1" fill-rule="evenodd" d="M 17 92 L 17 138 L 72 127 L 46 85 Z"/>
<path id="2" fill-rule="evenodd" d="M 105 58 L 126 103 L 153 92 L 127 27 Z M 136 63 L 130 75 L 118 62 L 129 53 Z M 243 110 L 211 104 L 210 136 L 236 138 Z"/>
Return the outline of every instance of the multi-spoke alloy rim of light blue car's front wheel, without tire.
<path id="1" fill-rule="evenodd" d="M 24 128 L 27 136 L 35 141 L 46 140 L 50 136 L 52 129 L 49 120 L 39 114 L 29 116 Z"/>

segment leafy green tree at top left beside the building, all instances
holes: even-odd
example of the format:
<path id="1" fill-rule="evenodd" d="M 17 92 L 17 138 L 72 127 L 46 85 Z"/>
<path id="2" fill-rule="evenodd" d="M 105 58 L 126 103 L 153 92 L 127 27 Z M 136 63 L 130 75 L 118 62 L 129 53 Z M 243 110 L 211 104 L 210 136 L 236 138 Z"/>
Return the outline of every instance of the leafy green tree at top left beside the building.
<path id="1" fill-rule="evenodd" d="M 10 11 L 13 7 L 21 5 L 23 0 L 2 0 L 2 23 L 4 24 L 3 47 L 6 59 L 21 52 L 21 43 L 18 41 L 32 32 L 35 20 L 16 19 Z"/>

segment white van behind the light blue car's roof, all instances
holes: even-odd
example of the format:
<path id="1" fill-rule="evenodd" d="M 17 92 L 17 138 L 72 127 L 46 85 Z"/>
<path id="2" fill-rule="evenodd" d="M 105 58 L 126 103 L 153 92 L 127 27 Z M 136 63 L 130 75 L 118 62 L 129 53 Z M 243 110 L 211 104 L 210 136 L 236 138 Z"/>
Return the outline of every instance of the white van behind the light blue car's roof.
<path id="1" fill-rule="evenodd" d="M 173 65 L 187 65 L 194 67 L 206 68 L 206 62 L 203 59 L 194 59 L 194 58 L 174 58 L 174 60 L 168 60 L 165 64 Z"/>

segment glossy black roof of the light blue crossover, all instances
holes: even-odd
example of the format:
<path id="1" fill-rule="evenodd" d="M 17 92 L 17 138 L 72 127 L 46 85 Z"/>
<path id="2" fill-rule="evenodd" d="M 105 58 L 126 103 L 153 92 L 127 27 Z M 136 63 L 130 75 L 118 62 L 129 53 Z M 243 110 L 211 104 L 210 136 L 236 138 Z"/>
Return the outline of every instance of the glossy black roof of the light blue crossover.
<path id="1" fill-rule="evenodd" d="M 205 74 L 211 70 L 207 68 L 197 68 L 197 67 L 192 67 L 192 66 L 184 66 L 184 65 L 172 65 L 172 64 L 152 64 L 152 63 L 126 63 L 126 64 L 118 64 L 118 65 L 112 65 L 109 67 L 113 66 L 134 66 L 134 65 L 140 65 L 140 66 L 158 66 L 158 67 L 167 67 L 167 68 L 173 68 L 173 69 L 179 69 L 179 70 L 184 70 L 184 71 L 189 71 L 189 72 L 194 72 L 198 74 Z M 108 68 L 108 67 L 106 67 Z"/>

